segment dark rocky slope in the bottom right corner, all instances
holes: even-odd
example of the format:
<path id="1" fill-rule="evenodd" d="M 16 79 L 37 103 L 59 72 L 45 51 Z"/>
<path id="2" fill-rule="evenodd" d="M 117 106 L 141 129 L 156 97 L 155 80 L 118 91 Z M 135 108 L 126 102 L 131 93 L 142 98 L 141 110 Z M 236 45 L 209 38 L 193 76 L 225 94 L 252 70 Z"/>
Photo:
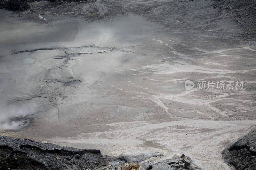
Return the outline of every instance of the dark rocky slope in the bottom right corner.
<path id="1" fill-rule="evenodd" d="M 229 165 L 239 170 L 256 169 L 256 130 L 222 152 Z"/>

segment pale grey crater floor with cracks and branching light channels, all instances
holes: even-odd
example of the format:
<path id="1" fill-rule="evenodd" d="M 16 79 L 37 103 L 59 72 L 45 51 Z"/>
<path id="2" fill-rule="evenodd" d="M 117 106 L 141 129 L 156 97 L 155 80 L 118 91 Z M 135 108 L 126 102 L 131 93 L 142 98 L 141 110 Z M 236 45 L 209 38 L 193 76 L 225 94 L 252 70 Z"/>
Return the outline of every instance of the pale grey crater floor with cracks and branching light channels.
<path id="1" fill-rule="evenodd" d="M 250 2 L 29 5 L 0 11 L 3 132 L 112 156 L 158 152 L 152 168 L 185 154 L 230 169 L 220 153 L 256 125 Z M 244 89 L 187 91 L 186 80 Z"/>

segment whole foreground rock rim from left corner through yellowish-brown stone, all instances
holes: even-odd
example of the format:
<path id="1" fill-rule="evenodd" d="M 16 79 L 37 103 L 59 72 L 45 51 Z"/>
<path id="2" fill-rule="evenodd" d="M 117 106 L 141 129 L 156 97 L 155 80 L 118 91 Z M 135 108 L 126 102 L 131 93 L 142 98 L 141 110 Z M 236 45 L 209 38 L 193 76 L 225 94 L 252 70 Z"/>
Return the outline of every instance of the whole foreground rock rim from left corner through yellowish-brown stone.
<path id="1" fill-rule="evenodd" d="M 14 139 L 0 135 L 0 169 L 200 169 L 185 155 L 159 162 L 157 159 L 156 162 L 146 161 L 151 157 L 161 156 L 159 153 L 153 153 L 132 157 L 110 157 L 102 155 L 100 150 L 61 147 L 30 139 Z"/>

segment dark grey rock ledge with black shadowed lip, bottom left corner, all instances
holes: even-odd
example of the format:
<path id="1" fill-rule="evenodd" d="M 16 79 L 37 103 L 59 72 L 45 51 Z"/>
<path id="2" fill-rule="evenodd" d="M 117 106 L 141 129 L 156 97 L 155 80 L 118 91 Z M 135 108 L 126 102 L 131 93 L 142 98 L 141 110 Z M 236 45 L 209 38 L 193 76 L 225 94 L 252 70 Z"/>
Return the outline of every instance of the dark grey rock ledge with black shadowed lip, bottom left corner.
<path id="1" fill-rule="evenodd" d="M 109 157 L 81 150 L 0 136 L 0 169 L 101 169 Z"/>

